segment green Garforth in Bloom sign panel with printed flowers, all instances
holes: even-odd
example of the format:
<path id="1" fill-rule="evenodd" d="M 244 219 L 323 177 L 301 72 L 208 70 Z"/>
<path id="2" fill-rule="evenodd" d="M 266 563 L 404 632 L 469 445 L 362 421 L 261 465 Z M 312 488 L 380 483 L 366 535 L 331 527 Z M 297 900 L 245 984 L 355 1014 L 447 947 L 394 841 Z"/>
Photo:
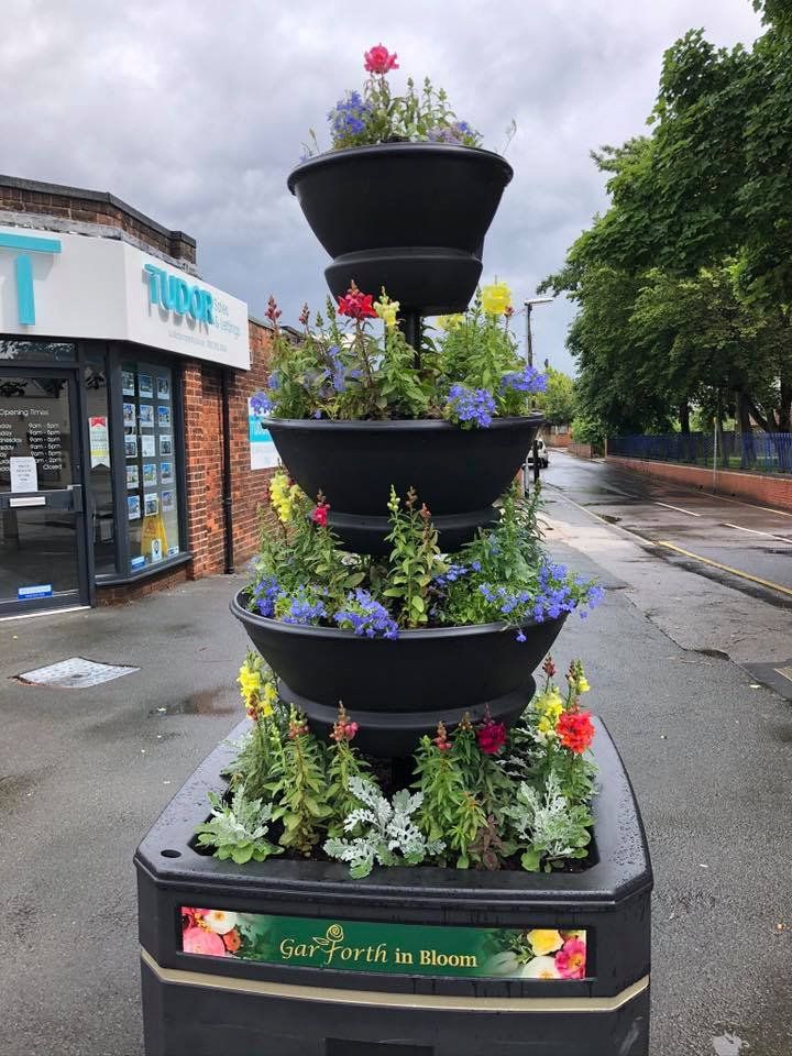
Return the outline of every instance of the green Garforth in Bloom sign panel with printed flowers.
<path id="1" fill-rule="evenodd" d="M 584 979 L 586 933 L 430 927 L 182 906 L 182 948 L 296 968 L 490 979 Z"/>

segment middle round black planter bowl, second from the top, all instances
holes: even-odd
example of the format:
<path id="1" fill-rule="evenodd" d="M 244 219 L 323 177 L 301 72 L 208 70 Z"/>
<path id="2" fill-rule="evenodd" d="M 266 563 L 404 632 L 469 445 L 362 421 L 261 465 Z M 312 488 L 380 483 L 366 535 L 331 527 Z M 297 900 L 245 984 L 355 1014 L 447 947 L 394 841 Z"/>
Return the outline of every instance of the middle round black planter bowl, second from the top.
<path id="1" fill-rule="evenodd" d="M 497 519 L 492 504 L 526 460 L 540 413 L 495 418 L 487 429 L 450 421 L 327 421 L 273 418 L 267 428 L 302 491 L 323 492 L 329 524 L 345 547 L 385 553 L 391 485 L 409 487 L 432 514 L 446 551 L 458 550 Z"/>

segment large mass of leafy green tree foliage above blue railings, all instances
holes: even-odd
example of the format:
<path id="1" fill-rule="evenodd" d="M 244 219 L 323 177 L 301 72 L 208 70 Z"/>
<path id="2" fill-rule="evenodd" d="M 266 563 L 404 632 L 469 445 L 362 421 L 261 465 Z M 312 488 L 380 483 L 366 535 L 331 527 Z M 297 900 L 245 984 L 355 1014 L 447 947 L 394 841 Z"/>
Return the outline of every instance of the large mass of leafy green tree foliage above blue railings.
<path id="1" fill-rule="evenodd" d="M 684 428 L 691 400 L 790 429 L 792 4 L 755 6 L 751 50 L 694 30 L 667 51 L 651 136 L 593 155 L 610 206 L 539 287 L 580 305 L 581 406 L 610 429 L 672 407 Z"/>

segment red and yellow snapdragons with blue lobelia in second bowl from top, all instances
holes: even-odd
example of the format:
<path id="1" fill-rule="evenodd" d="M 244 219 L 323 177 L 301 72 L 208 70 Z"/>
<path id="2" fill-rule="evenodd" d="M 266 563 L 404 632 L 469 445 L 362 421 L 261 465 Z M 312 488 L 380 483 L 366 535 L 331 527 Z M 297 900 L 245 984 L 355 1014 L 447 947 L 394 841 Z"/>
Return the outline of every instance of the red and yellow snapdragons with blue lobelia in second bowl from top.
<path id="1" fill-rule="evenodd" d="M 252 397 L 254 410 L 275 418 L 446 418 L 463 429 L 525 415 L 547 378 L 519 355 L 510 299 L 505 283 L 484 286 L 466 312 L 439 319 L 416 361 L 398 328 L 399 304 L 384 290 L 374 300 L 353 283 L 314 324 L 304 308 L 297 342 L 282 330 L 271 298 L 273 370 L 267 392 Z"/>

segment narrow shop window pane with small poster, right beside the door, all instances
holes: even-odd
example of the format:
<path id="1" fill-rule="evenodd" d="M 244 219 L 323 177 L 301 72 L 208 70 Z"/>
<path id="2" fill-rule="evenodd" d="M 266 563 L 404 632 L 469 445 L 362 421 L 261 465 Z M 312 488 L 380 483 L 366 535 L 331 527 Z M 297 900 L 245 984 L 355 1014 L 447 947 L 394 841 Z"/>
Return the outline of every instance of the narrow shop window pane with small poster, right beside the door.
<path id="1" fill-rule="evenodd" d="M 117 571 L 116 517 L 110 447 L 107 362 L 103 355 L 86 356 L 86 413 L 88 416 L 88 483 L 94 563 L 98 575 Z"/>

